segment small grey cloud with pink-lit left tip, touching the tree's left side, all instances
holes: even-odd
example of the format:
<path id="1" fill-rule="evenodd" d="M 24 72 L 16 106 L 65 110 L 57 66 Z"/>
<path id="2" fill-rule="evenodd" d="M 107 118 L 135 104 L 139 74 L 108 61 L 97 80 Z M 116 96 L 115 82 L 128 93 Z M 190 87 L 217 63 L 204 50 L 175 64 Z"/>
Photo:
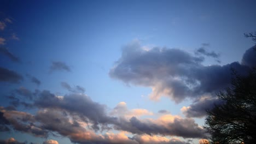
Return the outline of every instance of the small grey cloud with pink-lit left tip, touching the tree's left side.
<path id="1" fill-rule="evenodd" d="M 188 107 L 183 107 L 182 112 L 186 117 L 203 117 L 206 116 L 206 110 L 211 110 L 214 105 L 222 104 L 223 101 L 218 99 L 203 99 L 191 104 Z"/>

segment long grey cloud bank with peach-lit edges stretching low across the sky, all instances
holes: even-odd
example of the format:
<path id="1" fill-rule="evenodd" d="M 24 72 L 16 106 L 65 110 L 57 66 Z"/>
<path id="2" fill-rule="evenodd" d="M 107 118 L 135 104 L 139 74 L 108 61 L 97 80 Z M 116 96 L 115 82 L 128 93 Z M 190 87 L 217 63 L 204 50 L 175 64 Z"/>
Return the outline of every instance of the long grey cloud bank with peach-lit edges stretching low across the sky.
<path id="1" fill-rule="evenodd" d="M 98 104 L 81 93 L 58 96 L 42 91 L 37 92 L 32 101 L 31 105 L 38 110 L 36 115 L 1 107 L 2 119 L 5 119 L 2 127 L 39 137 L 47 137 L 54 132 L 78 143 L 115 143 L 115 139 L 110 139 L 112 134 L 96 134 L 99 130 L 127 131 L 132 135 L 204 137 L 203 129 L 193 119 L 172 115 L 161 115 L 157 119 L 141 118 L 154 113 L 146 109 L 129 110 L 125 102 L 119 103 L 108 114 L 106 105 Z M 121 136 L 124 135 L 118 137 Z M 126 138 L 127 143 L 134 141 Z"/>

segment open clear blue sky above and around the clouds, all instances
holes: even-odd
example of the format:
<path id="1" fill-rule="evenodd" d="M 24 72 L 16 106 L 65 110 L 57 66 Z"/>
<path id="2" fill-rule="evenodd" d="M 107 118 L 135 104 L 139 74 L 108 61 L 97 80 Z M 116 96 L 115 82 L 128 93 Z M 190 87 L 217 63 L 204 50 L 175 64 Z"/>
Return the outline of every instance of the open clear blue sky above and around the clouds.
<path id="1" fill-rule="evenodd" d="M 189 52 L 209 43 L 226 64 L 240 61 L 253 45 L 243 33 L 256 25 L 254 1 L 2 1 L 0 8 L 13 18 L 11 31 L 20 38 L 8 48 L 22 59 L 22 64 L 1 65 L 38 77 L 40 89 L 60 95 L 65 94 L 61 81 L 81 85 L 92 99 L 111 107 L 119 101 L 141 106 L 130 98 L 141 100 L 151 91 L 127 88 L 108 76 L 121 47 L 132 40 Z M 72 73 L 49 74 L 52 61 L 66 62 Z M 205 64 L 217 63 L 206 59 Z M 26 81 L 22 85 L 36 88 Z"/>

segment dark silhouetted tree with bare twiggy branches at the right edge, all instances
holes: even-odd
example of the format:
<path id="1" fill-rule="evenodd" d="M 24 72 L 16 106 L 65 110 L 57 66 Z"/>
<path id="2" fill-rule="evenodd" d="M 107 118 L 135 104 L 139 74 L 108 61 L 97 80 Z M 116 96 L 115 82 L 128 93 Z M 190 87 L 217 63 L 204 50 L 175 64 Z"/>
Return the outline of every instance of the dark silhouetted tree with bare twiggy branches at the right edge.
<path id="1" fill-rule="evenodd" d="M 205 128 L 213 143 L 255 143 L 256 69 L 247 76 L 235 74 L 231 87 L 219 92 L 223 103 L 207 111 Z"/>

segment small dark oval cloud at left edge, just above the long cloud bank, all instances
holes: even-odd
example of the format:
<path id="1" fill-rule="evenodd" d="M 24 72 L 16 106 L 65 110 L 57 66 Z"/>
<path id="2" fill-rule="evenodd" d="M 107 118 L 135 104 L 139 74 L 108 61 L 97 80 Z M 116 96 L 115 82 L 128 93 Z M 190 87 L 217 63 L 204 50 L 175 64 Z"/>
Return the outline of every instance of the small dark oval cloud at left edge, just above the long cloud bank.
<path id="1" fill-rule="evenodd" d="M 23 77 L 13 70 L 0 67 L 0 81 L 19 83 L 23 80 Z"/>

